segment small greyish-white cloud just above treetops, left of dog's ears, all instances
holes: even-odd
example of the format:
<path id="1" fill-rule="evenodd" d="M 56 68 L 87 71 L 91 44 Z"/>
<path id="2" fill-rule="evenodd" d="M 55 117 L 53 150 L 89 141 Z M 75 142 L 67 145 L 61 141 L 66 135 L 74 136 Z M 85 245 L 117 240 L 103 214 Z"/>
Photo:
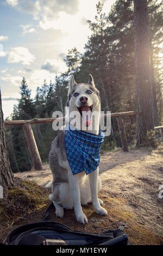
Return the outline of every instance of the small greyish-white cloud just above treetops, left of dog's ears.
<path id="1" fill-rule="evenodd" d="M 66 71 L 67 67 L 64 61 L 57 59 L 46 59 L 45 63 L 41 66 L 41 69 L 58 74 L 58 72 Z"/>

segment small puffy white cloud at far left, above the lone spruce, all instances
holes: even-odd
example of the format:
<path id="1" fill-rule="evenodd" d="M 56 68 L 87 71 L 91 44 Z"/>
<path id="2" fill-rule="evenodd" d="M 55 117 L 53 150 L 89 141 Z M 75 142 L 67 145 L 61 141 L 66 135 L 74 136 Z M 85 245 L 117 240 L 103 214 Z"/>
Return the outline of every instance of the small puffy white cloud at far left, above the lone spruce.
<path id="1" fill-rule="evenodd" d="M 11 48 L 10 52 L 8 53 L 9 63 L 22 62 L 23 65 L 29 65 L 31 62 L 34 62 L 34 60 L 35 57 L 26 47 L 14 47 Z"/>

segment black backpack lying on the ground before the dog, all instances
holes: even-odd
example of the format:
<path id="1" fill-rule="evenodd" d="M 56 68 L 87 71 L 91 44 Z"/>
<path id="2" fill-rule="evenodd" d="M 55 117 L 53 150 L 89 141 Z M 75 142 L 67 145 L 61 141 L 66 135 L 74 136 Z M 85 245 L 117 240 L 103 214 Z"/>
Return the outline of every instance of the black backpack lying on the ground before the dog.
<path id="1" fill-rule="evenodd" d="M 21 225 L 8 236 L 8 245 L 131 245 L 125 225 L 100 234 L 73 231 L 59 222 L 45 221 Z"/>

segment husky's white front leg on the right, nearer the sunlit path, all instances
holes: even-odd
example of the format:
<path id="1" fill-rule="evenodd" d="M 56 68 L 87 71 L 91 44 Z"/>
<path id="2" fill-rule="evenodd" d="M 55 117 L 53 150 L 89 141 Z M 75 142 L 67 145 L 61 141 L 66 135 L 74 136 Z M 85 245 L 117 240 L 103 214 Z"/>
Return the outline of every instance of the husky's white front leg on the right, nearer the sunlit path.
<path id="1" fill-rule="evenodd" d="M 96 170 L 89 174 L 92 204 L 97 214 L 107 215 L 107 211 L 100 205 L 97 196 L 97 181 L 98 181 L 98 167 Z"/>

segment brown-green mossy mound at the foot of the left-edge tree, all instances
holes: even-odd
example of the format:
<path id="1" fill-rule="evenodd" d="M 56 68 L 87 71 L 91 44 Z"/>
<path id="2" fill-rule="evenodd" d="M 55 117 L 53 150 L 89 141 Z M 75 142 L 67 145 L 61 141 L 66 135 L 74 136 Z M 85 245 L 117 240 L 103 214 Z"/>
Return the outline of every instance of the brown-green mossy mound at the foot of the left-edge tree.
<path id="1" fill-rule="evenodd" d="M 6 230 L 10 231 L 13 224 L 22 224 L 23 218 L 28 222 L 34 212 L 47 206 L 48 194 L 48 189 L 16 178 L 15 187 L 5 190 L 4 198 L 0 199 L 0 241 L 4 241 Z"/>

